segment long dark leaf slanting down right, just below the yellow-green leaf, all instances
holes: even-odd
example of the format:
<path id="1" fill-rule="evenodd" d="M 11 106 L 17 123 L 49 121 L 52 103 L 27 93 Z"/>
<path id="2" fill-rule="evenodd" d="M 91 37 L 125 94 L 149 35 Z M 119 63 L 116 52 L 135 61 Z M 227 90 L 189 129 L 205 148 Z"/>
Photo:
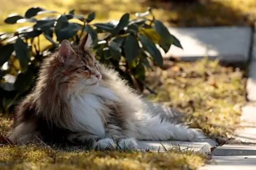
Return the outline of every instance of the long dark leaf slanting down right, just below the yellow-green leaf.
<path id="1" fill-rule="evenodd" d="M 159 66 L 162 66 L 163 65 L 163 58 L 162 58 L 161 53 L 159 52 L 159 50 L 155 46 L 155 44 L 144 35 L 140 34 L 139 37 L 140 37 L 140 40 L 141 40 L 141 44 L 145 48 L 145 50 L 152 56 L 154 61 Z"/>

